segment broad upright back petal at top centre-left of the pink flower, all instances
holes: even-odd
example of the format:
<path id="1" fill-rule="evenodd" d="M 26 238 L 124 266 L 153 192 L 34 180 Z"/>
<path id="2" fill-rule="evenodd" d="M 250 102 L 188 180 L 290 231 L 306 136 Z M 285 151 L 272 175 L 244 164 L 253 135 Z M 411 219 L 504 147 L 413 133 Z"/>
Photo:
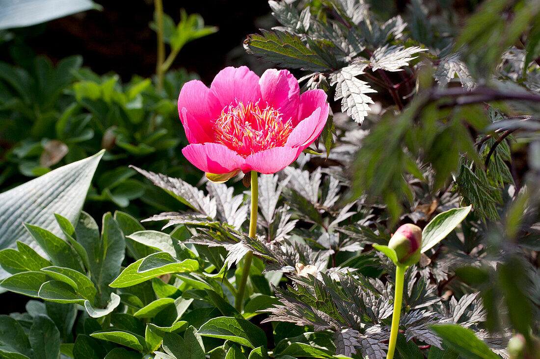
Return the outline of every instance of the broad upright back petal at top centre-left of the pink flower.
<path id="1" fill-rule="evenodd" d="M 246 66 L 225 67 L 215 75 L 210 86 L 210 106 L 214 116 L 222 109 L 238 101 L 257 102 L 261 99 L 259 77 Z"/>

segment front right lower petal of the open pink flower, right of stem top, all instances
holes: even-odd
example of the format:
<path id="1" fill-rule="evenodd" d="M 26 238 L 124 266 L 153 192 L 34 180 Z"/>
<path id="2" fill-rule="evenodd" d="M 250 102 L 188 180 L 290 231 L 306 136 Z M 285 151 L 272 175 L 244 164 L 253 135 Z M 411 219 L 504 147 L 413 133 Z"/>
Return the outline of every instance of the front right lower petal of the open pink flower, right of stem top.
<path id="1" fill-rule="evenodd" d="M 298 158 L 299 152 L 291 147 L 274 147 L 260 151 L 246 157 L 242 164 L 242 171 L 257 171 L 264 174 L 273 174 L 287 167 Z"/>

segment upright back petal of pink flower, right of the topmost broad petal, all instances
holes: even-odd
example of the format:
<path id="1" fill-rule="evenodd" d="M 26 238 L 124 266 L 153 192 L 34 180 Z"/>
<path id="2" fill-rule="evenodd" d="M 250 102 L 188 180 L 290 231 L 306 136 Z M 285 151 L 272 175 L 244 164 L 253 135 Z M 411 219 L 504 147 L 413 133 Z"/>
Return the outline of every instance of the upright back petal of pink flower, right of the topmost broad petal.
<path id="1" fill-rule="evenodd" d="M 262 74 L 259 80 L 262 99 L 268 105 L 279 110 L 287 121 L 296 119 L 300 101 L 300 87 L 298 81 L 287 70 L 270 68 Z"/>

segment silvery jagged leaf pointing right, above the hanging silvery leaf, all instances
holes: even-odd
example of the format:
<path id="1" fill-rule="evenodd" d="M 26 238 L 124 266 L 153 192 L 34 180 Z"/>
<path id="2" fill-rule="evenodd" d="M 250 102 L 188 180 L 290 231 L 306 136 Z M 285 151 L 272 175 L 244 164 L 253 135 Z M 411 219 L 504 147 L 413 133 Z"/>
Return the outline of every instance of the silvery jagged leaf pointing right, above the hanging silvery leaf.
<path id="1" fill-rule="evenodd" d="M 427 51 L 427 49 L 418 46 L 384 45 L 373 52 L 369 64 L 373 71 L 379 68 L 386 71 L 402 71 L 400 67 L 409 65 L 409 61 L 416 58 L 412 55 L 421 51 Z"/>

